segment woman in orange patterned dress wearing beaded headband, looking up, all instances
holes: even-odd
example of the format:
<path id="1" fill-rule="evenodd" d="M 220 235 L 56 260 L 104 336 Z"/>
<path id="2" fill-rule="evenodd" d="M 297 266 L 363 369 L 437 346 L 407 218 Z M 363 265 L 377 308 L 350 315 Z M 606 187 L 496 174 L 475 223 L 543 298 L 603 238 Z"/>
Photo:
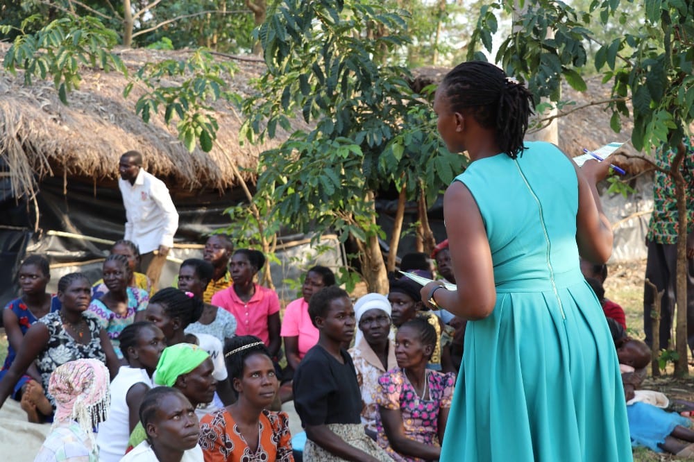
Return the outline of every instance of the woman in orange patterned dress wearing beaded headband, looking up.
<path id="1" fill-rule="evenodd" d="M 224 348 L 236 402 L 201 420 L 200 446 L 205 462 L 294 461 L 289 416 L 266 408 L 279 384 L 264 343 L 255 336 L 236 337 Z"/>

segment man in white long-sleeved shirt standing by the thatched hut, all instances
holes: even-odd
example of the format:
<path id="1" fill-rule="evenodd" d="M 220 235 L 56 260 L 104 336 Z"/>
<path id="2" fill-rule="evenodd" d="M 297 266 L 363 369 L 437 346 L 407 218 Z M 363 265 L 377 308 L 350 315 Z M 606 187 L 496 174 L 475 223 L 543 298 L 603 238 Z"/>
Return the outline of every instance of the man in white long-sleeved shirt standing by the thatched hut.
<path id="1" fill-rule="evenodd" d="M 178 212 L 164 182 L 142 168 L 142 154 L 128 151 L 121 155 L 118 171 L 118 187 L 126 208 L 124 239 L 139 248 L 142 271 L 152 280 L 155 290 L 169 249 L 174 246 Z"/>

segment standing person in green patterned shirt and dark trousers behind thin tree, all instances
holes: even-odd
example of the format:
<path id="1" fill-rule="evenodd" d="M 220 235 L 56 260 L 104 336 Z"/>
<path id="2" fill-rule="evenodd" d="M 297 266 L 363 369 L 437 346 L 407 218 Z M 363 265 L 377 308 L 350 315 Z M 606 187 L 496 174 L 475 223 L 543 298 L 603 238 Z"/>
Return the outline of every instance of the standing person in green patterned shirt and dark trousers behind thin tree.
<path id="1" fill-rule="evenodd" d="M 682 176 L 686 184 L 687 200 L 687 343 L 694 350 L 694 147 L 690 137 L 684 138 L 686 153 L 682 161 Z M 675 151 L 659 149 L 655 153 L 656 163 L 663 169 L 669 169 Z M 655 284 L 657 291 L 665 291 L 660 311 L 660 345 L 652 345 L 653 332 L 651 307 L 654 293 L 648 284 L 643 289 L 643 330 L 645 343 L 652 348 L 668 348 L 672 315 L 675 311 L 677 281 L 677 199 L 675 182 L 661 171 L 655 172 L 653 185 L 653 214 L 648 223 L 646 246 L 648 260 L 646 275 Z"/>

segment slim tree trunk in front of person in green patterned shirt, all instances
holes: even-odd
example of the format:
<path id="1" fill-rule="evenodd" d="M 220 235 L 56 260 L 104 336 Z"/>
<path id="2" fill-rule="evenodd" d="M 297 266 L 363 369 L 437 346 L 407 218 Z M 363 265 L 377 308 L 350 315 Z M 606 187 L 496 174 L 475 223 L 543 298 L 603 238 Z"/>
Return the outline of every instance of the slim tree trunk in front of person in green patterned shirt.
<path id="1" fill-rule="evenodd" d="M 670 165 L 670 175 L 675 180 L 675 197 L 677 198 L 677 279 L 675 288 L 677 291 L 677 337 L 676 347 L 677 362 L 675 363 L 675 376 L 686 377 L 689 375 L 687 343 L 687 206 L 686 184 L 680 166 L 684 161 L 686 148 L 680 141 L 677 146 L 677 154 Z"/>

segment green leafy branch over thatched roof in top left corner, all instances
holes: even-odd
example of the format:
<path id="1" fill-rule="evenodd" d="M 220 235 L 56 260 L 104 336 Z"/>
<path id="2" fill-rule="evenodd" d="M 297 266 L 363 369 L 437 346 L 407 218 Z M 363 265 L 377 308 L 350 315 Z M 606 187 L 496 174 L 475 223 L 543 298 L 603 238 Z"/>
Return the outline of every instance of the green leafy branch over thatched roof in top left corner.
<path id="1" fill-rule="evenodd" d="M 88 65 L 110 71 L 126 73 L 126 67 L 111 47 L 117 35 L 94 17 L 65 17 L 56 19 L 35 33 L 24 33 L 27 26 L 36 22 L 30 16 L 17 29 L 12 46 L 5 55 L 4 66 L 12 74 L 24 69 L 24 82 L 31 85 L 32 78 L 52 77 L 60 101 L 67 104 L 67 94 L 79 87 L 80 67 Z M 3 26 L 8 33 L 12 26 Z"/>

